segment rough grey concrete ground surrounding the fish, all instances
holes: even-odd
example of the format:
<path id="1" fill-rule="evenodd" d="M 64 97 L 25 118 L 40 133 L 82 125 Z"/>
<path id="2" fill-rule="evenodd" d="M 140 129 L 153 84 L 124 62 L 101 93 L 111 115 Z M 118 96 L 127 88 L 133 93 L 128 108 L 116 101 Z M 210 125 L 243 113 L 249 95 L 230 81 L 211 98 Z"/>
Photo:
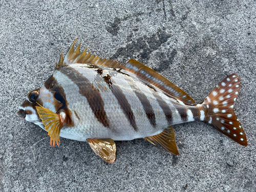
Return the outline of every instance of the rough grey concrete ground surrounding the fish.
<path id="1" fill-rule="evenodd" d="M 255 191 L 255 3 L 1 1 L 0 191 Z M 50 147 L 47 132 L 16 112 L 76 37 L 101 57 L 145 63 L 198 103 L 238 73 L 234 109 L 249 145 L 191 122 L 174 126 L 177 157 L 143 139 L 116 142 L 114 164 L 87 142 Z"/>

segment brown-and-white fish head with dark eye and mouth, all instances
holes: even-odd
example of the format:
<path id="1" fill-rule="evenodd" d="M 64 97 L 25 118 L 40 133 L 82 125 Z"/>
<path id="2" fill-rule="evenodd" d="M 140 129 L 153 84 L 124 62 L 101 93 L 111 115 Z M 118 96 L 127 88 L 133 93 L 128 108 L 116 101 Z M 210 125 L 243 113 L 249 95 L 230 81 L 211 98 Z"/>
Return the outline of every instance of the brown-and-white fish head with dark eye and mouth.
<path id="1" fill-rule="evenodd" d="M 48 90 L 44 86 L 40 89 L 35 89 L 28 93 L 25 101 L 19 106 L 17 116 L 20 119 L 42 125 L 36 106 L 44 106 L 44 108 L 56 113 L 65 105 L 59 95 L 57 90 Z"/>

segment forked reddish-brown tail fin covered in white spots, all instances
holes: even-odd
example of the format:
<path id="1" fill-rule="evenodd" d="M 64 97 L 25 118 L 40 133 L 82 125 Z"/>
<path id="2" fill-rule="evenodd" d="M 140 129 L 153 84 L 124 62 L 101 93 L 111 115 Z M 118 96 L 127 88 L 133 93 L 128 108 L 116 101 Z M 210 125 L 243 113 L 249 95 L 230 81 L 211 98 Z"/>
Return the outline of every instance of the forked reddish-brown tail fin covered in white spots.
<path id="1" fill-rule="evenodd" d="M 208 110 L 204 121 L 237 143 L 247 146 L 246 135 L 233 111 L 239 89 L 238 74 L 233 73 L 223 79 L 202 103 Z"/>

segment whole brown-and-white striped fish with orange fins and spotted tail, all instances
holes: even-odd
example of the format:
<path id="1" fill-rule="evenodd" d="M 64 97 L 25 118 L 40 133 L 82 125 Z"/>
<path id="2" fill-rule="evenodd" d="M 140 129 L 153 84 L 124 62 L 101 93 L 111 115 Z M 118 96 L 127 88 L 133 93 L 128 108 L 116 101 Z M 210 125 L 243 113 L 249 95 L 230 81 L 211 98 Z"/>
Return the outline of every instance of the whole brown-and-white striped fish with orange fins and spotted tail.
<path id="1" fill-rule="evenodd" d="M 241 123 L 234 114 L 240 77 L 224 78 L 199 104 L 174 83 L 141 62 L 124 65 L 80 52 L 73 44 L 60 55 L 53 74 L 28 93 L 18 108 L 21 119 L 48 132 L 50 145 L 60 137 L 87 141 L 108 163 L 116 160 L 115 141 L 144 138 L 179 155 L 173 125 L 204 121 L 247 146 Z"/>

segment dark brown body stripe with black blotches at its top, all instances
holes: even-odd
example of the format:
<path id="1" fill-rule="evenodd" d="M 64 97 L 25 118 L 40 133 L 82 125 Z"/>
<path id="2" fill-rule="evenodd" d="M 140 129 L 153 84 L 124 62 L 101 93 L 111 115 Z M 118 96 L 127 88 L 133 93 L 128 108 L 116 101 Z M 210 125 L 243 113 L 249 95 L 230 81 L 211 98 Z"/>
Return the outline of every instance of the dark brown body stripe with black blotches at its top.
<path id="1" fill-rule="evenodd" d="M 102 69 L 98 69 L 97 72 L 99 75 L 102 75 Z M 108 84 L 110 90 L 112 91 L 112 93 L 116 97 L 118 103 L 120 104 L 120 106 L 123 110 L 123 113 L 125 114 L 127 119 L 129 119 L 130 124 L 132 125 L 133 129 L 137 132 L 138 127 L 136 125 L 133 110 L 131 108 L 130 103 L 127 101 L 123 91 L 116 85 L 116 83 L 113 83 L 113 79 L 111 79 L 111 76 L 109 74 L 106 76 L 101 76 L 101 77 L 104 79 L 106 84 Z"/>

